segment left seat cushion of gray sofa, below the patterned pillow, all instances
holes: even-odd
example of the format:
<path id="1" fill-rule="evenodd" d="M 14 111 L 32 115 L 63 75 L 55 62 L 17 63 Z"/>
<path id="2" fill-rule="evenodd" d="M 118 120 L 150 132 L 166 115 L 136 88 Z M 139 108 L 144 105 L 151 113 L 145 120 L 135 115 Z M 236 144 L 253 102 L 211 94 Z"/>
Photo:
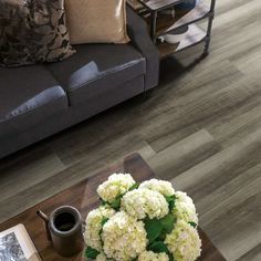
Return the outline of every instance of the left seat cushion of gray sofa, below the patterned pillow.
<path id="1" fill-rule="evenodd" d="M 43 66 L 0 69 L 0 139 L 66 108 L 64 90 Z"/>

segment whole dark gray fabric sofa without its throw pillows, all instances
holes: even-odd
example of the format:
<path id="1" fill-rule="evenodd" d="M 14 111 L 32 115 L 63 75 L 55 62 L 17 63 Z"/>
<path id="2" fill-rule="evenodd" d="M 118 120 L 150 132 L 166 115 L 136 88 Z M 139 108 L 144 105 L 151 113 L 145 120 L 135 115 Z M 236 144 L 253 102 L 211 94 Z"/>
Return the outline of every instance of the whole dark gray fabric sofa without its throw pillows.
<path id="1" fill-rule="evenodd" d="M 158 52 L 127 8 L 129 44 L 84 44 L 66 61 L 0 67 L 0 158 L 158 83 Z"/>

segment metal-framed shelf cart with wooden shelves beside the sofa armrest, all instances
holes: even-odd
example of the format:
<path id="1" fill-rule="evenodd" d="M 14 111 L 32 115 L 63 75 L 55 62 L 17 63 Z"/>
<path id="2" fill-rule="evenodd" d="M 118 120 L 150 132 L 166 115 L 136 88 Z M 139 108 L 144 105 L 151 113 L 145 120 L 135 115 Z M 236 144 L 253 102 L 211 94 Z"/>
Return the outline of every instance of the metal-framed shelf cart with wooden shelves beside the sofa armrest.
<path id="1" fill-rule="evenodd" d="M 139 13 L 146 14 L 145 19 L 149 27 L 150 36 L 157 45 L 161 59 L 201 42 L 205 42 L 203 55 L 209 53 L 216 0 L 211 0 L 210 4 L 198 1 L 192 10 L 176 10 L 175 17 L 165 14 L 161 11 L 175 9 L 184 0 L 138 0 L 138 2 L 143 6 L 143 11 Z M 208 20 L 207 29 L 202 29 L 197 22 L 206 19 Z M 187 25 L 189 29 L 181 42 L 170 44 L 158 41 L 159 36 Z"/>

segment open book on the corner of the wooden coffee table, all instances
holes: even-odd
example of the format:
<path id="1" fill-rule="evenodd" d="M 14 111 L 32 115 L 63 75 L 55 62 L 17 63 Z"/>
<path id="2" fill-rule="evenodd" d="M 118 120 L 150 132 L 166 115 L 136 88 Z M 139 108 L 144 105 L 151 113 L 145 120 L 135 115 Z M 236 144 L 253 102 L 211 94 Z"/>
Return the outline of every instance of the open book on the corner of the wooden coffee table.
<path id="1" fill-rule="evenodd" d="M 0 261 L 41 261 L 23 225 L 0 232 Z"/>

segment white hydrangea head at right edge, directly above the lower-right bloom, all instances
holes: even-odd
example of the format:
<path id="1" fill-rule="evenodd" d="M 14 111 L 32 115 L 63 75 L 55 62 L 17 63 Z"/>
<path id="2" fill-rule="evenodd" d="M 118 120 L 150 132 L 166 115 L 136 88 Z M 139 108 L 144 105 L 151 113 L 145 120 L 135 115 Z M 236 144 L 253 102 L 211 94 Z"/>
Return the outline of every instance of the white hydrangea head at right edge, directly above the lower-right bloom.
<path id="1" fill-rule="evenodd" d="M 186 222 L 195 222 L 198 225 L 198 215 L 192 199 L 187 194 L 177 191 L 175 194 L 176 201 L 173 209 L 174 216 L 177 220 L 184 220 Z"/>

